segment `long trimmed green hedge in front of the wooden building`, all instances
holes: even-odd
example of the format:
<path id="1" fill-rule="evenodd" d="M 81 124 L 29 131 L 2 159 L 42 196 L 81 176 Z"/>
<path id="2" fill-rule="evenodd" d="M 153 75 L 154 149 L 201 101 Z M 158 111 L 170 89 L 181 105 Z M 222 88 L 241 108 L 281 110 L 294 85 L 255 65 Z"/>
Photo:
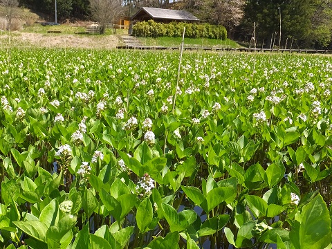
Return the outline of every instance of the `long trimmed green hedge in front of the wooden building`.
<path id="1" fill-rule="evenodd" d="M 226 39 L 227 31 L 224 26 L 210 24 L 187 24 L 185 22 L 171 22 L 169 24 L 156 21 L 138 21 L 133 26 L 133 35 L 138 37 L 181 37 L 185 27 L 185 37 L 211 39 Z"/>

